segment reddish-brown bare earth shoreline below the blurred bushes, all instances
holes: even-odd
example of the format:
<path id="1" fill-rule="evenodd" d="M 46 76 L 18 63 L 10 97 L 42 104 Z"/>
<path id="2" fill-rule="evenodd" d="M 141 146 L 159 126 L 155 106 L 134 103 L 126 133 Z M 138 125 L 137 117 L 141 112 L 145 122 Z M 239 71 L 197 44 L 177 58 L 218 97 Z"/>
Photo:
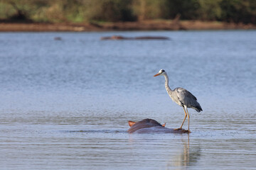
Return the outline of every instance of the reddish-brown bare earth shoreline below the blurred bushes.
<path id="1" fill-rule="evenodd" d="M 253 30 L 256 25 L 218 21 L 141 21 L 118 23 L 0 23 L 0 32 L 82 32 L 111 30 Z"/>

